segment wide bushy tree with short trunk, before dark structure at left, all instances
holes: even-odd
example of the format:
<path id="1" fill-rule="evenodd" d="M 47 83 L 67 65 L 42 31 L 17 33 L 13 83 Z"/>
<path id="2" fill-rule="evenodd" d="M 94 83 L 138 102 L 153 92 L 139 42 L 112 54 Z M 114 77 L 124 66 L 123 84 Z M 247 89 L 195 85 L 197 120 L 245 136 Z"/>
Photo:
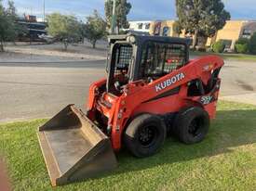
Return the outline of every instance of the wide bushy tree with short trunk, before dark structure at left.
<path id="1" fill-rule="evenodd" d="M 74 16 L 53 13 L 47 16 L 47 32 L 64 45 L 66 51 L 70 43 L 81 39 L 81 27 Z"/>

